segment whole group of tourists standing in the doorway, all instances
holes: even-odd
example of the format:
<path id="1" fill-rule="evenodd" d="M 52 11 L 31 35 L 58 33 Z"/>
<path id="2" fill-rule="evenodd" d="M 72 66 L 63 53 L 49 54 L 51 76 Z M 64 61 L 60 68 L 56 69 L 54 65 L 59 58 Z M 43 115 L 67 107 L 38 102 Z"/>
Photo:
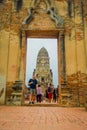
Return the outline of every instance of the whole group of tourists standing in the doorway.
<path id="1" fill-rule="evenodd" d="M 45 93 L 42 92 L 42 87 L 38 84 L 38 81 L 33 77 L 28 82 L 29 86 L 29 104 L 35 102 L 41 103 L 43 100 L 51 102 L 57 102 L 58 99 L 58 88 L 54 88 L 51 83 L 48 83 Z"/>

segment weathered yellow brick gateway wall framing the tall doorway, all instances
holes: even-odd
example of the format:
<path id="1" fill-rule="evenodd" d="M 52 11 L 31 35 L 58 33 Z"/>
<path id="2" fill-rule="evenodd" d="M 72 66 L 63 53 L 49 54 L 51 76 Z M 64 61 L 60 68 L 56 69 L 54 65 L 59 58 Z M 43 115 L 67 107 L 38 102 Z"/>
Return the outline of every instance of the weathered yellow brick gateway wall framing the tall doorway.
<path id="1" fill-rule="evenodd" d="M 87 102 L 86 0 L 0 2 L 0 104 L 23 104 L 26 40 L 31 37 L 58 39 L 59 103 L 84 106 Z M 12 89 L 16 83 L 22 86 L 17 93 Z M 12 102 L 15 94 L 17 101 Z"/>

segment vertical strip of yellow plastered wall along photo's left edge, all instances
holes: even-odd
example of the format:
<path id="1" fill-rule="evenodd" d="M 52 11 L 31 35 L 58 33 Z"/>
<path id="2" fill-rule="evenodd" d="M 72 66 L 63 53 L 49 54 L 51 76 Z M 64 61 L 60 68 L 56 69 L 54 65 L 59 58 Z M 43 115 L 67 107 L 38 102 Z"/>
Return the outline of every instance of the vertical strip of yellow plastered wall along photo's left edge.
<path id="1" fill-rule="evenodd" d="M 11 4 L 0 4 L 0 104 L 5 102 L 9 58 Z"/>

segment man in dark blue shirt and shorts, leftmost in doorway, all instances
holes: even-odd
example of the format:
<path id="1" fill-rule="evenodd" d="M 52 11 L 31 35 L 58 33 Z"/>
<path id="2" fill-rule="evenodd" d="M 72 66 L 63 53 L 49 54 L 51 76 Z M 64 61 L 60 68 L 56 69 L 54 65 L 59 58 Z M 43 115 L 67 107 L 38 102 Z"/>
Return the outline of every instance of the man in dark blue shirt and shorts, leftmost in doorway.
<path id="1" fill-rule="evenodd" d="M 34 104 L 36 99 L 36 85 L 37 85 L 37 80 L 35 75 L 33 75 L 32 78 L 29 80 L 28 85 L 30 87 L 29 103 Z"/>

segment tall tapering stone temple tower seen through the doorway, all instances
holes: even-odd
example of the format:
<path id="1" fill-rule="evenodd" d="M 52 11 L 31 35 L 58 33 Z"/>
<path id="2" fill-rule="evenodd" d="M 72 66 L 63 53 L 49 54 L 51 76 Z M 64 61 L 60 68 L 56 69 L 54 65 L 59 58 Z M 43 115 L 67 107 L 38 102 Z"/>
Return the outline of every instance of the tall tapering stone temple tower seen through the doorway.
<path id="1" fill-rule="evenodd" d="M 47 50 L 42 47 L 38 52 L 34 74 L 37 76 L 37 80 L 43 88 L 45 88 L 48 83 L 53 82 L 53 73 L 50 69 L 49 59 Z"/>

